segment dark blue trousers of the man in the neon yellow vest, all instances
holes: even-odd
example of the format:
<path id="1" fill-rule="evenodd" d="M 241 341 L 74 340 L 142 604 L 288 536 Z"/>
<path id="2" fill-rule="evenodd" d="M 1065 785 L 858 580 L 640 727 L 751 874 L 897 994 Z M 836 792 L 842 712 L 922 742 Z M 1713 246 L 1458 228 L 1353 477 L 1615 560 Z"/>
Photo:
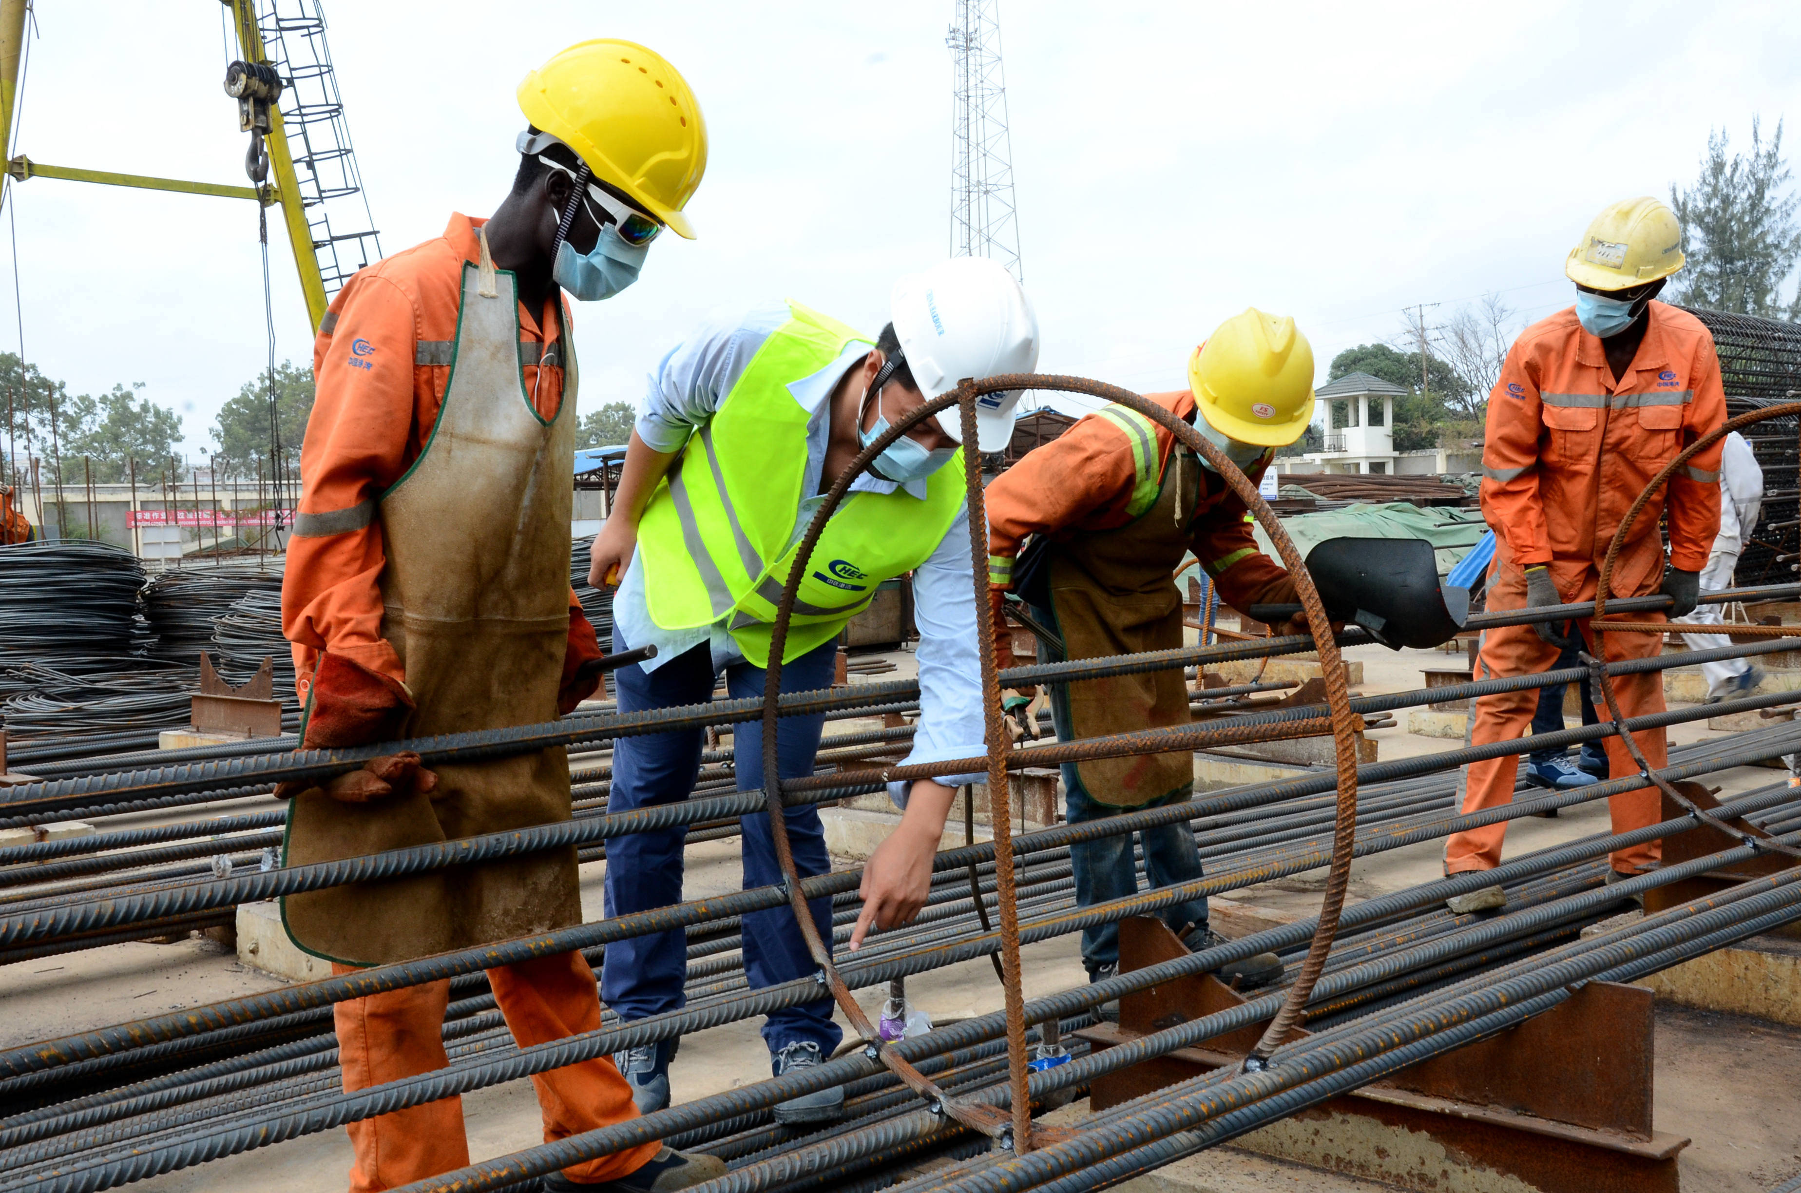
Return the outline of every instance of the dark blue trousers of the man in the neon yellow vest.
<path id="1" fill-rule="evenodd" d="M 629 651 L 618 633 L 612 649 Z M 782 669 L 783 692 L 805 692 L 832 687 L 837 643 L 809 651 Z M 699 705 L 713 697 L 711 649 L 699 645 L 672 658 L 652 672 L 641 667 L 621 667 L 612 672 L 620 694 L 620 712 L 643 712 L 672 705 Z M 726 688 L 733 699 L 764 694 L 764 669 L 737 663 L 726 669 Z M 783 717 L 776 732 L 776 762 L 783 779 L 812 775 L 812 760 L 819 751 L 819 733 L 825 715 Z M 764 786 L 762 724 L 756 721 L 733 726 L 733 753 L 738 791 Z M 643 733 L 621 737 L 612 748 L 612 795 L 607 811 L 621 813 L 652 804 L 675 804 L 688 798 L 695 773 L 701 768 L 701 730 L 670 733 Z M 769 836 L 767 813 L 740 818 L 744 887 L 769 887 L 782 881 L 774 843 Z M 825 827 L 814 806 L 787 809 L 789 843 L 794 849 L 794 867 L 801 878 L 825 874 L 832 860 L 825 852 Z M 681 903 L 683 842 L 686 827 L 634 833 L 607 842 L 607 915 L 629 915 L 656 906 Z M 812 919 L 832 943 L 832 899 L 810 903 Z M 798 977 L 812 977 L 818 966 L 807 953 L 807 943 L 794 924 L 787 906 L 744 915 L 744 970 L 753 989 L 776 986 Z M 688 935 L 681 928 L 654 935 L 630 937 L 607 946 L 602 966 L 600 998 L 620 1018 L 636 1020 L 686 1006 L 683 982 L 688 975 Z M 764 1040 L 771 1051 L 789 1043 L 812 1042 L 827 1056 L 843 1040 L 843 1031 L 832 1022 L 832 1000 L 819 998 L 798 1007 L 773 1013 L 764 1022 Z"/>

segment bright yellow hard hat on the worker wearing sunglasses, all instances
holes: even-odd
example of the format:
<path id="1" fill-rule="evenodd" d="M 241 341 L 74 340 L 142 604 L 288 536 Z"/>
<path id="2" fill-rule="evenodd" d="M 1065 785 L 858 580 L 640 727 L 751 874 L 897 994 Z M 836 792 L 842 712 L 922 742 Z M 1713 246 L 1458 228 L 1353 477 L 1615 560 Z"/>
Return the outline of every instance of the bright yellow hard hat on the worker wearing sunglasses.
<path id="1" fill-rule="evenodd" d="M 578 41 L 526 76 L 519 108 L 537 128 L 582 155 L 677 236 L 706 173 L 706 121 L 688 81 L 636 41 Z"/>

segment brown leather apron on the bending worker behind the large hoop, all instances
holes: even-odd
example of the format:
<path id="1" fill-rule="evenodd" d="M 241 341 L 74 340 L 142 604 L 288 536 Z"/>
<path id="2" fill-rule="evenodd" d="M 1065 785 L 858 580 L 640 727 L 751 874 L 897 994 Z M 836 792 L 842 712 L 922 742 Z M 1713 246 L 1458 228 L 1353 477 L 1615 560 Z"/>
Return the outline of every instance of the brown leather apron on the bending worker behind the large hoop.
<path id="1" fill-rule="evenodd" d="M 1156 503 L 1117 530 L 1077 532 L 1050 550 L 1050 600 L 1068 658 L 1181 647 L 1181 593 L 1171 573 L 1189 550 L 1199 499 L 1199 463 L 1180 443 L 1163 469 Z M 1055 688 L 1052 688 L 1055 699 Z M 1068 687 L 1077 737 L 1189 724 L 1181 670 L 1082 679 Z M 1077 762 L 1099 804 L 1136 807 L 1194 784 L 1194 751 Z"/>

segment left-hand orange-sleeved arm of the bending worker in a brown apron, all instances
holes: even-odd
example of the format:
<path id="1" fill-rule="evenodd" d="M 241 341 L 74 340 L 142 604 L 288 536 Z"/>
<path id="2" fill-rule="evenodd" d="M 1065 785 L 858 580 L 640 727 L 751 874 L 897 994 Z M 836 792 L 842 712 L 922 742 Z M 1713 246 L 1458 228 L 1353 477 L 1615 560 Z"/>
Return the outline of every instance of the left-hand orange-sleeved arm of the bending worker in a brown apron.
<path id="1" fill-rule="evenodd" d="M 982 501 L 989 514 L 989 625 L 998 669 L 1012 667 L 1005 593 L 1012 591 L 1019 544 L 1027 535 L 1070 530 L 1115 512 L 1124 524 L 1135 479 L 1126 433 L 1090 414 L 1057 440 L 1027 452 L 987 487 Z"/>

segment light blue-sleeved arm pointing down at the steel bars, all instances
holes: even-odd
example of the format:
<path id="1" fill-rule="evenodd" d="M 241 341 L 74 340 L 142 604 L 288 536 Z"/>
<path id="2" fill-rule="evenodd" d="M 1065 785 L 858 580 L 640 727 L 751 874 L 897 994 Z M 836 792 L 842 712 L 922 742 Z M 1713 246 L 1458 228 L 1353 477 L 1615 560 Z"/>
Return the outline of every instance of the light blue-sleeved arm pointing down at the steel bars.
<path id="1" fill-rule="evenodd" d="M 967 506 L 931 559 L 913 571 L 913 620 L 919 624 L 919 732 L 902 766 L 978 759 L 985 753 L 985 717 Z M 985 773 L 971 773 L 888 784 L 888 797 L 902 809 L 900 824 L 863 867 L 863 914 L 850 932 L 850 948 L 863 944 L 870 926 L 897 928 L 926 905 L 931 858 L 956 788 L 985 779 Z"/>

